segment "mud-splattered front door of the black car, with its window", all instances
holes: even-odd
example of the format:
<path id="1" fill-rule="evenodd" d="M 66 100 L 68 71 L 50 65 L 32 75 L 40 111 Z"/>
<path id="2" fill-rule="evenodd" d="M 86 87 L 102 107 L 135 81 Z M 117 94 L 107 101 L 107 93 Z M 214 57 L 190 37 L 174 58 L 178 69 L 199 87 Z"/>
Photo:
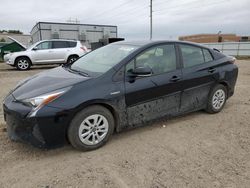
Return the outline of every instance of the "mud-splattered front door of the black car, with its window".
<path id="1" fill-rule="evenodd" d="M 148 77 L 131 78 L 136 67 L 149 66 Z M 125 68 L 125 101 L 130 126 L 178 113 L 180 80 L 175 44 L 154 46 L 135 57 Z"/>

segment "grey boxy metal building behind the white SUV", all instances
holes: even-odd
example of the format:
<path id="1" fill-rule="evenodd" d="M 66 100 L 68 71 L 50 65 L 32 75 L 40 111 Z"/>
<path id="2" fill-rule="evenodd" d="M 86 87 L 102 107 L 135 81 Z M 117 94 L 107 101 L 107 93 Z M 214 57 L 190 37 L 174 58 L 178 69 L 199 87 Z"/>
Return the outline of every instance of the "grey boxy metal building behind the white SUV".
<path id="1" fill-rule="evenodd" d="M 117 38 L 117 26 L 38 22 L 31 30 L 31 38 L 32 43 L 46 39 L 80 40 L 90 48 L 91 43 Z"/>

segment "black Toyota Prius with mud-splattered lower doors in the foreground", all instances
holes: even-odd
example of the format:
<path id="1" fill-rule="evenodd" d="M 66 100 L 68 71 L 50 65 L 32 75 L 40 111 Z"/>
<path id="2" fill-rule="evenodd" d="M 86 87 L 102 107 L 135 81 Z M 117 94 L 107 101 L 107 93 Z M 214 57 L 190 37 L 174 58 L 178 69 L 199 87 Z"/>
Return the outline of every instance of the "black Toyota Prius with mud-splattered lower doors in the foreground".
<path id="1" fill-rule="evenodd" d="M 217 113 L 234 93 L 235 59 L 181 41 L 117 42 L 20 82 L 3 102 L 12 140 L 41 148 L 103 146 L 114 131 Z"/>

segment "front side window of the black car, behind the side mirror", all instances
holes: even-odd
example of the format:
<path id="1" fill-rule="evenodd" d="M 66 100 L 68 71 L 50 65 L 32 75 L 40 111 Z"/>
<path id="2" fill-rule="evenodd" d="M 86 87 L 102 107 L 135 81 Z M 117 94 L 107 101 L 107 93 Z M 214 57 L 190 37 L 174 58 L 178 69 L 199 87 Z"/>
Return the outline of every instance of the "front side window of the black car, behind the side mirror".
<path id="1" fill-rule="evenodd" d="M 132 72 L 137 67 L 150 67 L 153 74 L 175 70 L 176 52 L 174 44 L 147 49 L 126 65 L 126 72 Z"/>

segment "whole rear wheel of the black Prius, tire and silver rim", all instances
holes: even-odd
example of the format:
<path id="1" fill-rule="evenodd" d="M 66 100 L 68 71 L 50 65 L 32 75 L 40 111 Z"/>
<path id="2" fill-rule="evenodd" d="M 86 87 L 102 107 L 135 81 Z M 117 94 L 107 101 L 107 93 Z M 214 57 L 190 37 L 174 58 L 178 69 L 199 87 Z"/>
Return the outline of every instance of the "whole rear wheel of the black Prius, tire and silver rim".
<path id="1" fill-rule="evenodd" d="M 216 85 L 210 92 L 206 111 L 214 114 L 220 112 L 227 100 L 227 89 L 225 86 Z"/>

